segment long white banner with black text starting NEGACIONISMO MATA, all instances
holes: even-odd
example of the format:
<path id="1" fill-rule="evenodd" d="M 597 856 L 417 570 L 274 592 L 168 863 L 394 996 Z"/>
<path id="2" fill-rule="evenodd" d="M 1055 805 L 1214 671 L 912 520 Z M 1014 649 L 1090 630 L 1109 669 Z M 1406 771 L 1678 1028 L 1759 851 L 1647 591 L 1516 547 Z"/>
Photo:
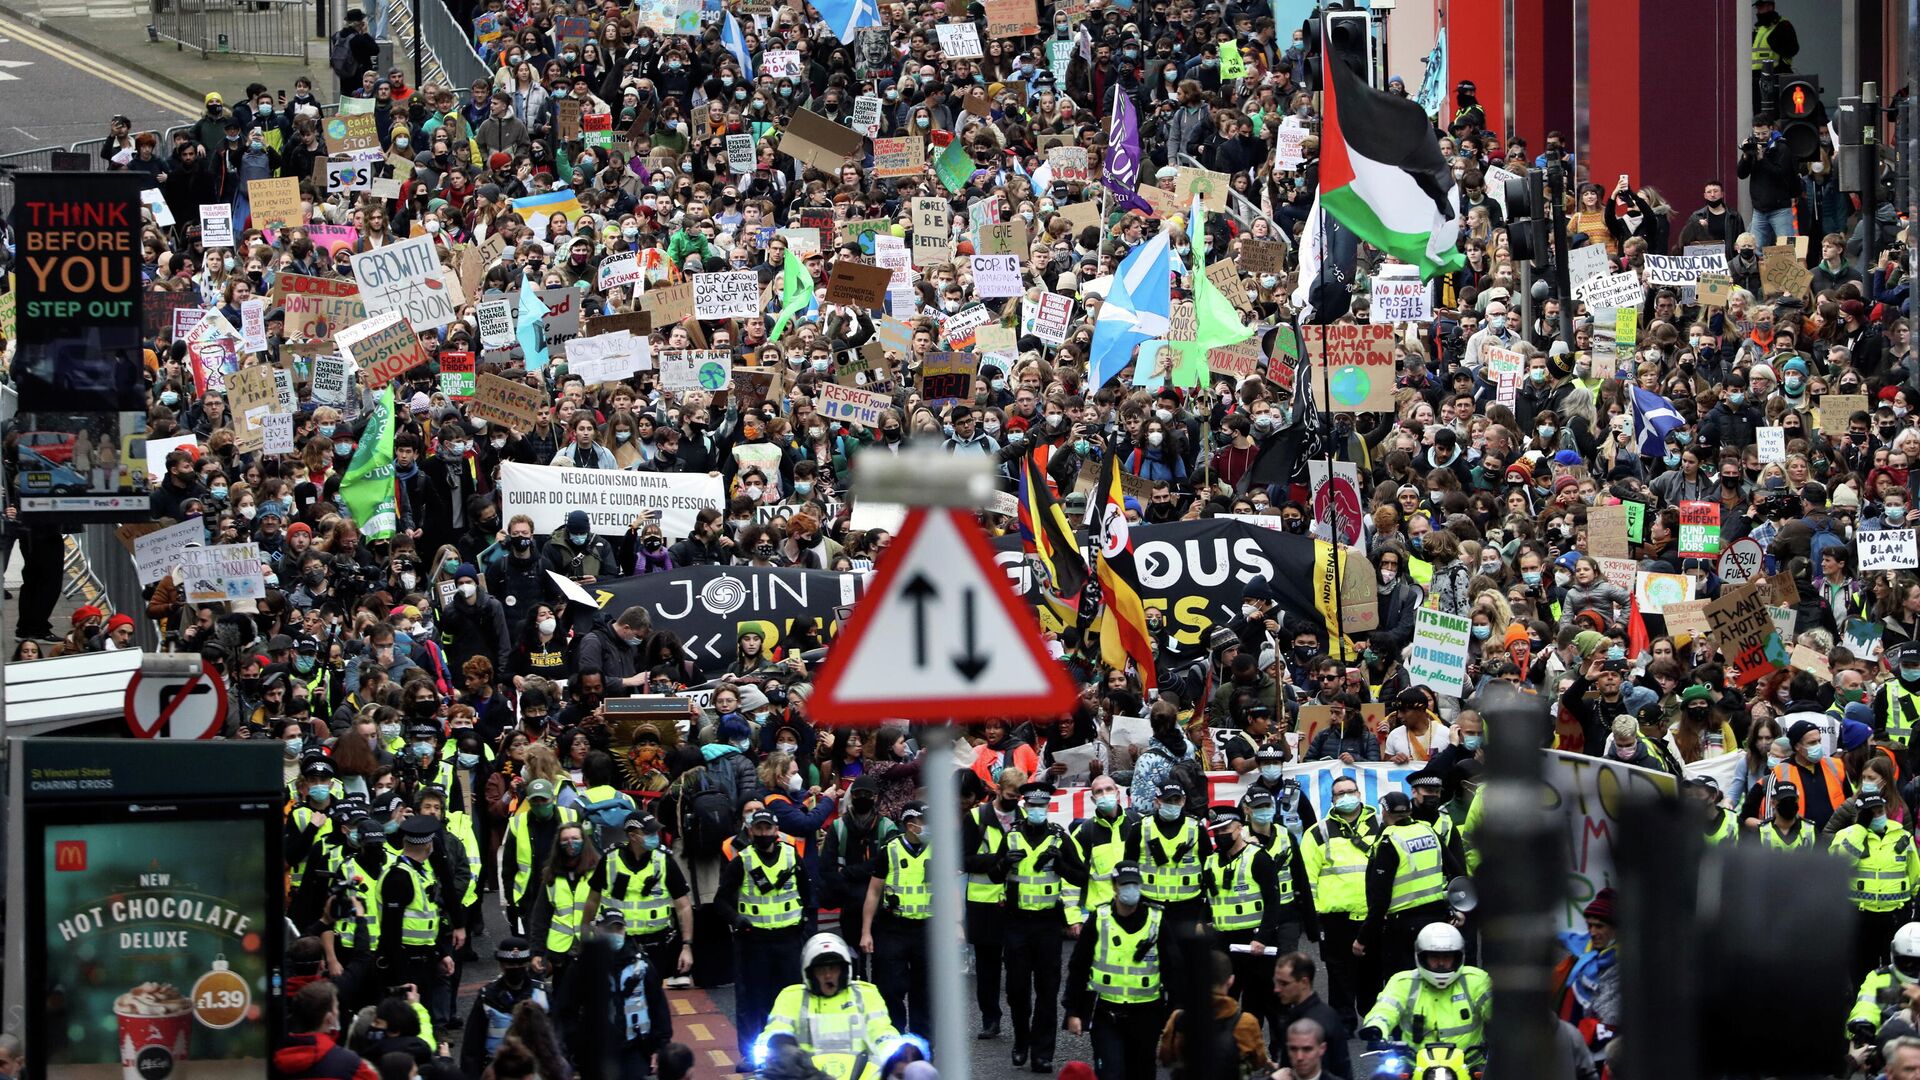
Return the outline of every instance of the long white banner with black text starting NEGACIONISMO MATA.
<path id="1" fill-rule="evenodd" d="M 553 465 L 499 467 L 501 515 L 524 513 L 534 519 L 534 534 L 566 525 L 580 509 L 593 521 L 593 532 L 618 536 L 636 517 L 660 513 L 668 536 L 693 532 L 693 517 L 707 509 L 726 509 L 720 477 L 705 473 L 628 473 L 620 469 L 561 469 Z"/>

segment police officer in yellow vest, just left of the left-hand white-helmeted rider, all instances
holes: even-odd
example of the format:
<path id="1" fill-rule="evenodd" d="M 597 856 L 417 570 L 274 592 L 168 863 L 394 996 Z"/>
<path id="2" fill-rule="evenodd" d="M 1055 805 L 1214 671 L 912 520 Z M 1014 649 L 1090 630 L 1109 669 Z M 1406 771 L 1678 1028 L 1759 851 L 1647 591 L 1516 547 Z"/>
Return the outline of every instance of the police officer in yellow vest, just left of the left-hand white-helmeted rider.
<path id="1" fill-rule="evenodd" d="M 812 880 L 772 811 L 753 811 L 747 840 L 720 869 L 714 892 L 714 911 L 733 928 L 733 1030 L 743 1059 L 766 1026 L 774 992 L 801 969 L 801 945 L 814 924 Z"/>

